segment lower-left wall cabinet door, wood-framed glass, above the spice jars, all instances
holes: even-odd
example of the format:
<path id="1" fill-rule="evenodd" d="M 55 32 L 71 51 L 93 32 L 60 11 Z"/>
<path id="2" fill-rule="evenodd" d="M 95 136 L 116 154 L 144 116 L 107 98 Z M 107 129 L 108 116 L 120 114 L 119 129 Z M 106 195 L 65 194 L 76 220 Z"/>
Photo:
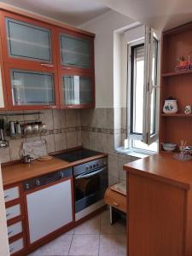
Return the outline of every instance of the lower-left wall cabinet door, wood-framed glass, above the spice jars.
<path id="1" fill-rule="evenodd" d="M 46 72 L 8 65 L 6 71 L 10 109 L 58 107 L 58 81 L 54 70 Z"/>

